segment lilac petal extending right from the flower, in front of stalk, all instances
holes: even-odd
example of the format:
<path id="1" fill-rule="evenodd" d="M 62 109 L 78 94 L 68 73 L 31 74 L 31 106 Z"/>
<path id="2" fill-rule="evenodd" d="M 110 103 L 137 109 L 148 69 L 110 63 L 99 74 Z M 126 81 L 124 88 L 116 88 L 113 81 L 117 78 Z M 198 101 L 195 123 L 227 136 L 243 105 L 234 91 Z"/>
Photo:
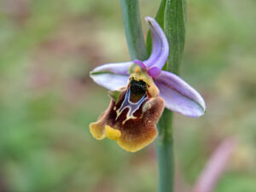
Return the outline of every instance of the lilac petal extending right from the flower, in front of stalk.
<path id="1" fill-rule="evenodd" d="M 155 84 L 166 102 L 166 108 L 189 117 L 205 113 L 206 104 L 201 95 L 177 75 L 162 71 Z"/>

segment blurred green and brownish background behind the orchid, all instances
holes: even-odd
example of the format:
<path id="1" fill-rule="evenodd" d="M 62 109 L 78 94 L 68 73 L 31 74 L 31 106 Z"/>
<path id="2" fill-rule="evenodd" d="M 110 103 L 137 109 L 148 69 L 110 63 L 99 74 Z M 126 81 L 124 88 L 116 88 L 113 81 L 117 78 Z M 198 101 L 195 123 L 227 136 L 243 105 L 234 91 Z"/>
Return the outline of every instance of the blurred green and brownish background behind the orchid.
<path id="1" fill-rule="evenodd" d="M 177 183 L 193 186 L 233 137 L 214 191 L 255 192 L 256 2 L 187 2 L 181 76 L 204 96 L 207 114 L 175 115 Z M 140 0 L 142 18 L 159 3 Z M 129 60 L 119 0 L 0 1 L 1 192 L 156 191 L 154 144 L 126 153 L 88 128 L 109 102 L 90 70 Z"/>

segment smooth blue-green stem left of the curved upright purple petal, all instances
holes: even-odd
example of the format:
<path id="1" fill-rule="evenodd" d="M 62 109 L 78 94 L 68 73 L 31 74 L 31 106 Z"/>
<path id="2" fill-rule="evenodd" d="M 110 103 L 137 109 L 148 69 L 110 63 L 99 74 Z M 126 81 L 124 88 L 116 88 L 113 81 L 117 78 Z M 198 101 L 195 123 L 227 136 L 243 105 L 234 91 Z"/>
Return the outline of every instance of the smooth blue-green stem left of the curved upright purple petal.
<path id="1" fill-rule="evenodd" d="M 131 60 L 147 59 L 147 50 L 143 38 L 140 11 L 137 0 L 121 0 L 125 36 Z"/>

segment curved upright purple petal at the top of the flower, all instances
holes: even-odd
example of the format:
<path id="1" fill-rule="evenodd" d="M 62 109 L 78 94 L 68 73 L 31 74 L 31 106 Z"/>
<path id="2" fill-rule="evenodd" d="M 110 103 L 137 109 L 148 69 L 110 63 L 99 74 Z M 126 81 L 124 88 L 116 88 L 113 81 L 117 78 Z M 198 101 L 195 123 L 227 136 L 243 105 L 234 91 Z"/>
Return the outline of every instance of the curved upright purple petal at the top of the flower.
<path id="1" fill-rule="evenodd" d="M 152 52 L 147 61 L 143 61 L 147 67 L 164 67 L 169 55 L 169 44 L 165 32 L 160 25 L 151 17 L 145 17 L 147 21 L 151 37 L 152 37 Z"/>

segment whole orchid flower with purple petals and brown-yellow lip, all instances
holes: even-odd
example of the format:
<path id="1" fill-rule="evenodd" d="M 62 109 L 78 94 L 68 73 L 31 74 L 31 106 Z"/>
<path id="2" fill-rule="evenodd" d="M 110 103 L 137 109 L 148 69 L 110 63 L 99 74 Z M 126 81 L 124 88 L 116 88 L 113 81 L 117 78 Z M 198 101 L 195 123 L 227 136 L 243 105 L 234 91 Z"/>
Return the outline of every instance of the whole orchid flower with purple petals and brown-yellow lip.
<path id="1" fill-rule="evenodd" d="M 205 113 L 201 95 L 176 74 L 162 71 L 169 44 L 159 24 L 145 18 L 152 36 L 152 52 L 146 61 L 108 63 L 96 67 L 90 77 L 110 90 L 111 102 L 90 133 L 98 140 L 108 137 L 121 148 L 135 152 L 154 141 L 156 123 L 164 108 L 189 117 Z"/>

